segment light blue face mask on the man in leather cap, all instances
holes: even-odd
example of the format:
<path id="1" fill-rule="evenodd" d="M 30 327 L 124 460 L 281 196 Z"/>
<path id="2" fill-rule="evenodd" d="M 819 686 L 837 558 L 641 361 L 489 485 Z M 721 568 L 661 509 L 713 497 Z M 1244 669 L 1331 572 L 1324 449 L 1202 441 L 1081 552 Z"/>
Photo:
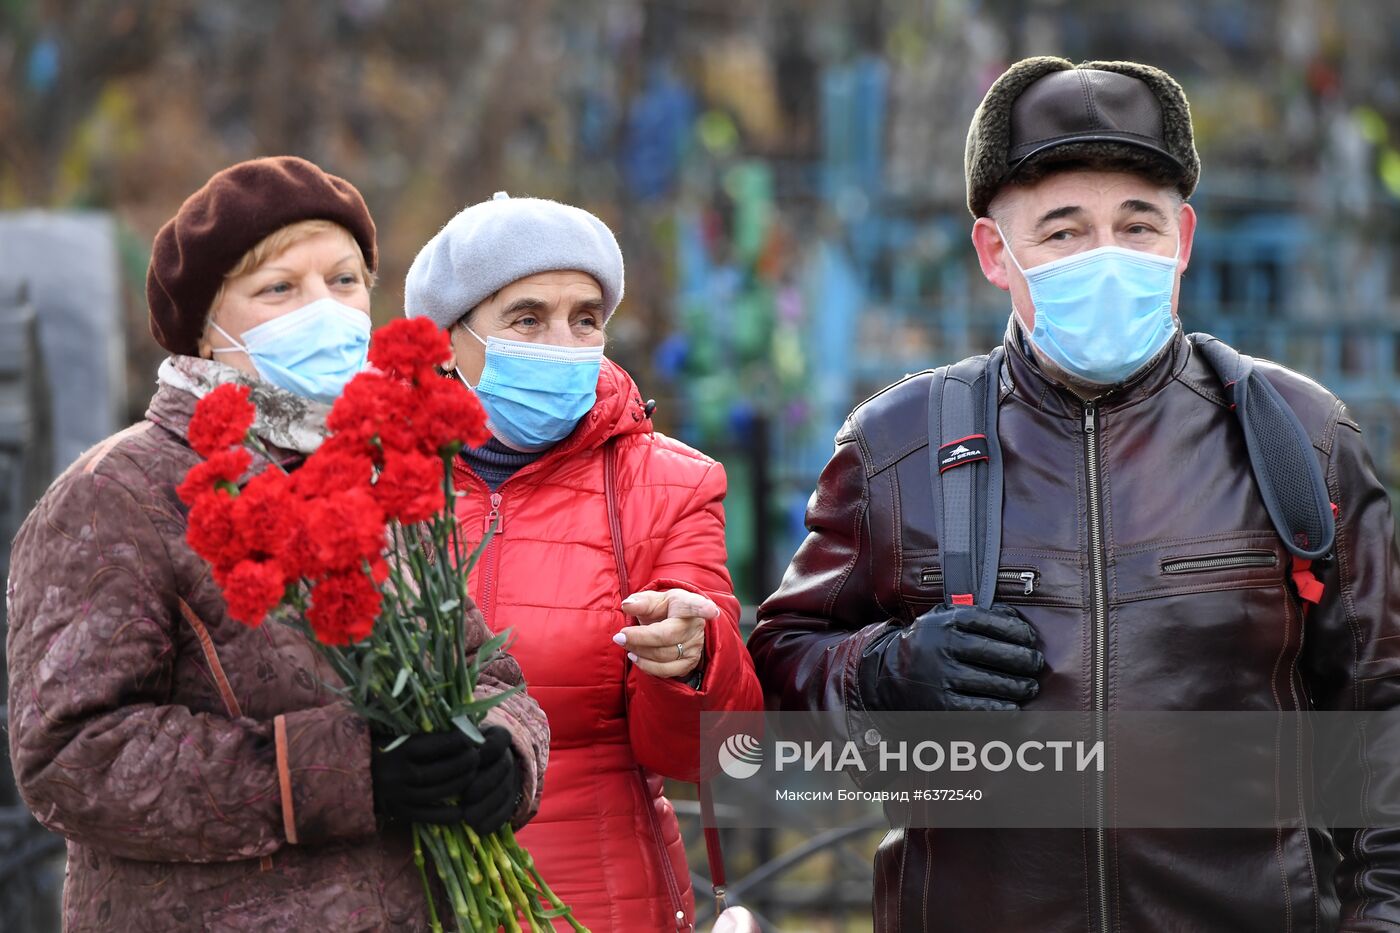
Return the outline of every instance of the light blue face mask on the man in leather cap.
<path id="1" fill-rule="evenodd" d="M 1007 234 L 1001 233 L 1002 242 Z M 1070 375 L 1119 385 L 1147 366 L 1176 332 L 1175 256 L 1099 247 L 1033 269 L 1007 255 L 1026 277 L 1036 326 L 1030 343 Z"/>

